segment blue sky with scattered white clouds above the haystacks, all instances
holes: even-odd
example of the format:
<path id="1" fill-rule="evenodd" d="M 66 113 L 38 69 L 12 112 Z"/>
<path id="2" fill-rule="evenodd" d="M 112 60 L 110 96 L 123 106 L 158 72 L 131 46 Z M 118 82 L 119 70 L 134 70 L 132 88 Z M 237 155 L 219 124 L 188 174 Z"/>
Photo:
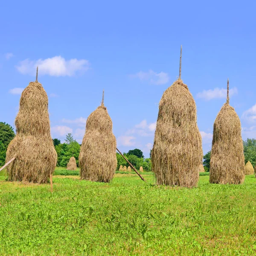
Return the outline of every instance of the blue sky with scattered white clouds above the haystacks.
<path id="1" fill-rule="evenodd" d="M 179 73 L 194 96 L 206 153 L 225 102 L 256 138 L 255 1 L 25 1 L 0 3 L 0 121 L 14 126 L 21 88 L 35 80 L 49 96 L 52 137 L 85 122 L 105 89 L 121 151 L 148 157 L 158 102 Z"/>

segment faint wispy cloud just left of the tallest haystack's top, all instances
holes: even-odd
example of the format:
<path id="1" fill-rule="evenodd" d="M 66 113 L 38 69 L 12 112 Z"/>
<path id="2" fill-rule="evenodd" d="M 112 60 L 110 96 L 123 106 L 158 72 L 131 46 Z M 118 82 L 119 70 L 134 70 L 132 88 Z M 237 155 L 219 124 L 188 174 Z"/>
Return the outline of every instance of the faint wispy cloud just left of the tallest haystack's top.
<path id="1" fill-rule="evenodd" d="M 131 75 L 131 78 L 138 78 L 140 81 L 149 81 L 151 84 L 166 84 L 169 82 L 169 76 L 167 73 L 160 72 L 156 73 L 153 70 L 148 72 L 140 71 L 135 75 Z"/>

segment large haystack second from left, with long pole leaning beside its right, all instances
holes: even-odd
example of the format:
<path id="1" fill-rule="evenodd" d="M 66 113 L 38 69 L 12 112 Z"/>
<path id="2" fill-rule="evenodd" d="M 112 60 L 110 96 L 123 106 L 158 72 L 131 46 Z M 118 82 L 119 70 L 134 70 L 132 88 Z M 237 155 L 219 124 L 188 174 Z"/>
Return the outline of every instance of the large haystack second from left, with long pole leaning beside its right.
<path id="1" fill-rule="evenodd" d="M 116 170 L 116 137 L 112 132 L 112 120 L 102 104 L 87 118 L 82 141 L 79 166 L 81 179 L 109 182 Z"/>

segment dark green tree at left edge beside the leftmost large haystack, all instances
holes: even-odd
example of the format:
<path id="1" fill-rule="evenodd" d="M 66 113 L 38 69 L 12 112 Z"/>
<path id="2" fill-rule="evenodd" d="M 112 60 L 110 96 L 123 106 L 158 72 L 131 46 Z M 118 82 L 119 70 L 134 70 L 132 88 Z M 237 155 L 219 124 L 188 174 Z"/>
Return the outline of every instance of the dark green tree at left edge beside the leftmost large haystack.
<path id="1" fill-rule="evenodd" d="M 6 150 L 14 137 L 15 133 L 12 126 L 5 122 L 0 122 L 0 166 L 5 164 Z"/>

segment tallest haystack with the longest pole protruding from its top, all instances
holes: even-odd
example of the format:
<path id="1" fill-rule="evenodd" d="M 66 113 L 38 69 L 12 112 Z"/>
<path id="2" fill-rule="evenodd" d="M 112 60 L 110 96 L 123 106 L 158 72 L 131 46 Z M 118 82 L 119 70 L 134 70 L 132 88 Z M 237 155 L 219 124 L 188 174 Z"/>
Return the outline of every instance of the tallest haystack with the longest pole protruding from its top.
<path id="1" fill-rule="evenodd" d="M 181 50 L 179 79 L 159 103 L 151 160 L 157 184 L 191 188 L 198 184 L 203 150 L 195 100 L 181 80 Z"/>

